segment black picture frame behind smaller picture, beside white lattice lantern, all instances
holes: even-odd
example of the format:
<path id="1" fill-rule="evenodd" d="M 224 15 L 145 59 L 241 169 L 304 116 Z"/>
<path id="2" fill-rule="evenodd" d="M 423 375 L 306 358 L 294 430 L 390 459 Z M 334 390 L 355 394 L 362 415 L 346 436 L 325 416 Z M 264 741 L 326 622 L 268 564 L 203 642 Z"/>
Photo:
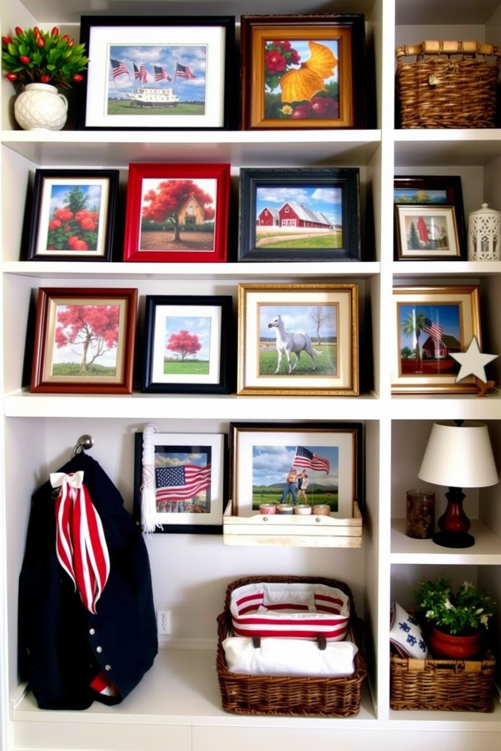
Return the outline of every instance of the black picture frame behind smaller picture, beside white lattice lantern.
<path id="1" fill-rule="evenodd" d="M 433 192 L 433 193 L 432 193 Z M 425 198 L 428 195 L 428 200 Z M 435 195 L 440 201 L 431 200 L 430 196 Z M 403 200 L 405 196 L 405 200 Z M 394 176 L 394 204 L 395 204 L 395 225 L 394 225 L 394 260 L 395 261 L 466 261 L 468 257 L 468 234 L 466 228 L 466 218 L 463 207 L 463 189 L 461 187 L 461 178 L 459 175 L 410 175 Z M 454 207 L 454 222 L 457 230 L 457 244 L 459 252 L 455 256 L 442 258 L 437 253 L 434 258 L 429 256 L 425 258 L 406 258 L 401 249 L 399 242 L 399 228 L 397 216 L 397 204 L 406 204 L 409 206 L 418 204 L 426 205 L 449 205 Z"/>

